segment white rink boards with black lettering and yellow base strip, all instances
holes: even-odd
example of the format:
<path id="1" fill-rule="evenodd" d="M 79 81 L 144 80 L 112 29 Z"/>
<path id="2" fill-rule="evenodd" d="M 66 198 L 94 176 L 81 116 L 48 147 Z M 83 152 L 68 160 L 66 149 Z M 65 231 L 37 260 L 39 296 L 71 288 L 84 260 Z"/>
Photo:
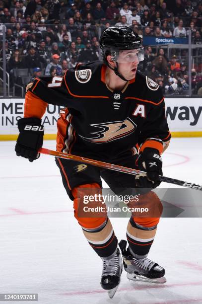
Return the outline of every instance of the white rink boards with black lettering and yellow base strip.
<path id="1" fill-rule="evenodd" d="M 173 137 L 202 136 L 202 98 L 165 98 L 166 116 Z M 63 107 L 49 104 L 42 119 L 45 139 L 55 139 L 57 119 Z M 6 98 L 0 103 L 0 140 L 17 138 L 17 120 L 23 117 L 24 99 Z"/>

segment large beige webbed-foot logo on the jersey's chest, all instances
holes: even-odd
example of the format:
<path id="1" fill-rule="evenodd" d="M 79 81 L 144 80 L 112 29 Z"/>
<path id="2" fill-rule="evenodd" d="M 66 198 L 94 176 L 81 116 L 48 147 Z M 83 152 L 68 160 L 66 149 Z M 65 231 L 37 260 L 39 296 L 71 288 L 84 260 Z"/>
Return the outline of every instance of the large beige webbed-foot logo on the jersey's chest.
<path id="1" fill-rule="evenodd" d="M 104 144 L 109 143 L 133 133 L 137 125 L 130 119 L 127 118 L 123 121 L 114 121 L 102 124 L 92 124 L 90 125 L 95 128 L 99 128 L 98 131 L 92 132 L 91 134 L 96 135 L 95 137 L 82 137 L 84 140 L 96 143 Z"/>

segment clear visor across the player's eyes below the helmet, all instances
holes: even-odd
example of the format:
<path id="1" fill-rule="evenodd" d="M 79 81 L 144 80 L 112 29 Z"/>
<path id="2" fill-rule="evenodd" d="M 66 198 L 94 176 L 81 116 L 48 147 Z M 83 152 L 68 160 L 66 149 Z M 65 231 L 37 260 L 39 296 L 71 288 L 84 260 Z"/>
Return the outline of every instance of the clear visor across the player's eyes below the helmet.
<path id="1" fill-rule="evenodd" d="M 144 60 L 144 48 L 135 50 L 111 50 L 112 60 L 118 63 L 140 62 Z"/>

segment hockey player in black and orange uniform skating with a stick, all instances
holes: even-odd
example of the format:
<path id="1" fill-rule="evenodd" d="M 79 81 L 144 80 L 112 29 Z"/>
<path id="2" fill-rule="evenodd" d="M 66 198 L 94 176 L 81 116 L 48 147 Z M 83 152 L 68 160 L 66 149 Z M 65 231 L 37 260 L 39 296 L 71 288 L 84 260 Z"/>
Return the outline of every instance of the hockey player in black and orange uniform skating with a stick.
<path id="1" fill-rule="evenodd" d="M 123 267 L 117 238 L 106 213 L 80 217 L 79 203 L 86 189 L 101 192 L 101 177 L 115 193 L 117 188 L 157 187 L 162 174 L 160 155 L 171 136 L 158 84 L 137 72 L 144 58 L 141 38 L 129 27 L 109 27 L 101 35 L 100 48 L 104 62 L 77 65 L 63 77 L 40 77 L 27 86 L 15 151 L 30 161 L 39 157 L 44 135 L 41 118 L 50 103 L 65 107 L 58 119 L 57 151 L 146 170 L 147 177 L 135 177 L 56 159 L 73 201 L 74 217 L 103 261 L 101 286 L 112 298 Z M 152 191 L 142 194 L 141 202 L 155 206 L 159 214 L 149 218 L 132 214 L 128 249 L 126 241 L 120 242 L 124 267 L 130 279 L 164 283 L 164 268 L 147 258 L 162 205 Z"/>

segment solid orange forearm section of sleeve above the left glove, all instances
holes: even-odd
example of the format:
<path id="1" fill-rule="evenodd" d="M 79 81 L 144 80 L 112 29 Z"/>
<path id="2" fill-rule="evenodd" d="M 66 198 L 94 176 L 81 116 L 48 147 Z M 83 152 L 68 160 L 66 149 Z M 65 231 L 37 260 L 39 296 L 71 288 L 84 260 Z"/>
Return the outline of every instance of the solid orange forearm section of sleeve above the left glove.
<path id="1" fill-rule="evenodd" d="M 25 95 L 24 117 L 37 117 L 41 119 L 46 112 L 47 105 L 47 102 L 34 95 L 31 91 L 28 91 Z"/>

